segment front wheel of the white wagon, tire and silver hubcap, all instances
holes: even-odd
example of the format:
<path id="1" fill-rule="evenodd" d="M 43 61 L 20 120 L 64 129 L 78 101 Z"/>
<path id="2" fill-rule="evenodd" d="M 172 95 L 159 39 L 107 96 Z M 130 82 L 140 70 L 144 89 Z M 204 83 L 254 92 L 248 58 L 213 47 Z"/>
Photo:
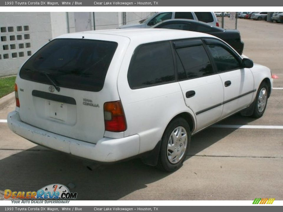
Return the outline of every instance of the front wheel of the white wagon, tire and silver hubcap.
<path id="1" fill-rule="evenodd" d="M 256 93 L 256 100 L 254 104 L 254 113 L 252 117 L 260 118 L 265 111 L 268 99 L 268 86 L 266 82 L 262 82 L 259 86 L 259 90 Z"/>

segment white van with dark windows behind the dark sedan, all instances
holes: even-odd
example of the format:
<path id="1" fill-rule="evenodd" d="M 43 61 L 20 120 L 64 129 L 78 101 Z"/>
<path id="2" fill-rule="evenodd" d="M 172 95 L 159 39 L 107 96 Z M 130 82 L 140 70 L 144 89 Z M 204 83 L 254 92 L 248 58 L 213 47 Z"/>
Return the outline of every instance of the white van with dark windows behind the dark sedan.
<path id="1" fill-rule="evenodd" d="M 147 19 L 140 21 L 139 24 L 126 24 L 119 27 L 119 29 L 150 28 L 153 25 L 168 19 L 192 19 L 219 27 L 219 23 L 214 12 L 158 12 L 154 13 Z"/>

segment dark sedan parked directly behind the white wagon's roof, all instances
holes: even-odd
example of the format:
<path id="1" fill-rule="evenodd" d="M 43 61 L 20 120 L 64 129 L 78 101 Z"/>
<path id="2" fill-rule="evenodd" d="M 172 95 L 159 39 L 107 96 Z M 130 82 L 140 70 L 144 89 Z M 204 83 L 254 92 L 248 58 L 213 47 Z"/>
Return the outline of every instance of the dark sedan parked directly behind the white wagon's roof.
<path id="1" fill-rule="evenodd" d="M 155 24 L 152 28 L 180 29 L 187 31 L 203 32 L 219 37 L 233 47 L 240 55 L 243 53 L 244 43 L 241 41 L 240 32 L 236 29 L 223 29 L 202 21 L 188 19 L 170 19 Z"/>

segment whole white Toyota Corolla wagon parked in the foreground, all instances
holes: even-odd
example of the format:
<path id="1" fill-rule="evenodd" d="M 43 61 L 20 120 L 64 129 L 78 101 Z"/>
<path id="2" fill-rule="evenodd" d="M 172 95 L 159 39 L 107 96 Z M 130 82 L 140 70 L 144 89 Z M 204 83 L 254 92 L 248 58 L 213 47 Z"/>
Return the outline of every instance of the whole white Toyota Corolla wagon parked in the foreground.
<path id="1" fill-rule="evenodd" d="M 269 68 L 209 34 L 115 29 L 65 34 L 19 68 L 9 128 L 99 162 L 140 157 L 174 171 L 195 133 L 232 114 L 261 117 Z"/>

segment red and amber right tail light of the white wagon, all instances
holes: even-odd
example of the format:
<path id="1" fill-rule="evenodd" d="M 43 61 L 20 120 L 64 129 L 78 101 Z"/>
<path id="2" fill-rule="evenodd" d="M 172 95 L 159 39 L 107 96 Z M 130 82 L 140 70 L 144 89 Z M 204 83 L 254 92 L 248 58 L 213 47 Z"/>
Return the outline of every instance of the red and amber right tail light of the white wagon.
<path id="1" fill-rule="evenodd" d="M 127 129 L 121 101 L 104 104 L 104 122 L 106 131 L 122 132 Z"/>

